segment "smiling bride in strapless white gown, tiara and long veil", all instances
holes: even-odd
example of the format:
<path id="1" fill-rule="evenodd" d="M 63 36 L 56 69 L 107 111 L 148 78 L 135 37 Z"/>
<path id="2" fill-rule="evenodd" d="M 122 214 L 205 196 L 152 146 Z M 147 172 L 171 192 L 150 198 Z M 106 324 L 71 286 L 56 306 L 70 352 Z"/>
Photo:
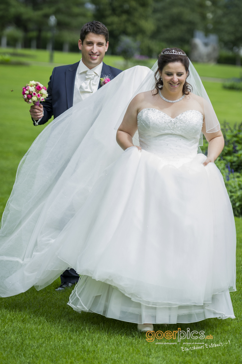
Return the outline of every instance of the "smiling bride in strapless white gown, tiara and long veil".
<path id="1" fill-rule="evenodd" d="M 1 229 L 2 297 L 71 267 L 81 274 L 68 303 L 78 312 L 142 331 L 235 317 L 235 224 L 214 164 L 219 122 L 182 50 L 164 49 L 155 68 L 122 72 L 81 112 L 60 115 L 20 162 Z"/>

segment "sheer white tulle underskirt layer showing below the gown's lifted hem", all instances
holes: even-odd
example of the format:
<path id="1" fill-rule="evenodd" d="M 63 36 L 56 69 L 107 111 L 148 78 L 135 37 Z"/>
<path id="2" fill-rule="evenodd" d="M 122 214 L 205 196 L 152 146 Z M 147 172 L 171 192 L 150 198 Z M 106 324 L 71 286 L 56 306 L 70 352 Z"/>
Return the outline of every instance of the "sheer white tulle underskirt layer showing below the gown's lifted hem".
<path id="1" fill-rule="evenodd" d="M 77 312 L 95 312 L 106 317 L 138 324 L 192 323 L 206 318 L 234 318 L 229 291 L 217 293 L 210 303 L 149 306 L 132 301 L 116 287 L 82 276 L 68 302 Z"/>

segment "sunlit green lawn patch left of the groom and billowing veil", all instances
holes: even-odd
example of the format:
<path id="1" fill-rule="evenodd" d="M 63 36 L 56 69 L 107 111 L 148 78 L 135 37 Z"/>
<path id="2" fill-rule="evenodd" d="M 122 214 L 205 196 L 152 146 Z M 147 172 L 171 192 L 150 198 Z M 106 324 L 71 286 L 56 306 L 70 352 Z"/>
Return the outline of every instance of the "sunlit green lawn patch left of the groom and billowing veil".
<path id="1" fill-rule="evenodd" d="M 0 216 L 11 193 L 17 166 L 44 128 L 33 126 L 21 88 L 33 79 L 47 85 L 51 72 L 49 67 L 0 66 Z"/>

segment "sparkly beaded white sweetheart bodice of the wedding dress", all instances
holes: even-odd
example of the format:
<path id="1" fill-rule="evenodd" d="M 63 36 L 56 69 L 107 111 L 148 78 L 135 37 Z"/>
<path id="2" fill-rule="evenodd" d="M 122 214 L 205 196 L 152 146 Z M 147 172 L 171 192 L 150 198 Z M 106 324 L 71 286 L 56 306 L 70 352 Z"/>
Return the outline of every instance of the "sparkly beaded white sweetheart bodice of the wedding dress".
<path id="1" fill-rule="evenodd" d="M 194 158 L 197 154 L 203 116 L 187 110 L 176 118 L 155 108 L 144 108 L 137 116 L 140 146 L 168 159 Z"/>

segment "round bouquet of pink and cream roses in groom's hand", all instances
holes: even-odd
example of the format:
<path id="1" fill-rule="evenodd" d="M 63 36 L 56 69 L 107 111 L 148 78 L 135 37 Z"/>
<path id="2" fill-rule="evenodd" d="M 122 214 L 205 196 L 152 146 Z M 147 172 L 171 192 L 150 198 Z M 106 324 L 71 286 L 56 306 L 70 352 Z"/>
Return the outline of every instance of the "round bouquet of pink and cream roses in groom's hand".
<path id="1" fill-rule="evenodd" d="M 22 88 L 24 101 L 28 104 L 33 103 L 38 106 L 40 101 L 44 101 L 48 96 L 46 87 L 41 85 L 40 82 L 30 81 Z"/>

